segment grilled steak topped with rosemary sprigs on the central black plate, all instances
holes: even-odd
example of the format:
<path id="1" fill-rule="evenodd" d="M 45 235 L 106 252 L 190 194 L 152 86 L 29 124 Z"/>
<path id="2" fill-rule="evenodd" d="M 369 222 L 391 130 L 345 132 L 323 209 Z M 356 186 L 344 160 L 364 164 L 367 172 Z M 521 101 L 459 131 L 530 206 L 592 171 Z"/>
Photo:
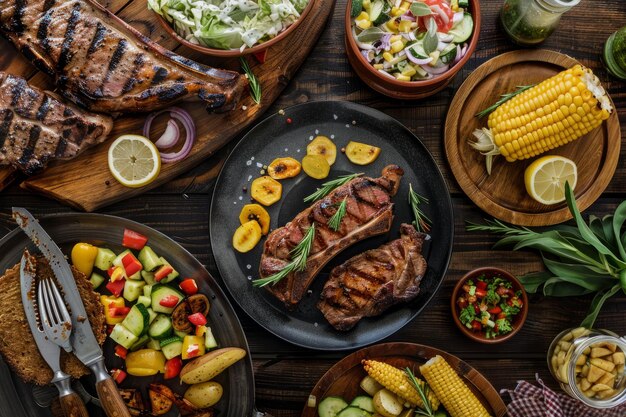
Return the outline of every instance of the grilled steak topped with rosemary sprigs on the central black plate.
<path id="1" fill-rule="evenodd" d="M 289 263 L 289 252 L 315 223 L 315 239 L 306 270 L 293 272 L 265 288 L 287 307 L 293 307 L 302 299 L 317 273 L 335 255 L 360 240 L 387 232 L 393 220 L 391 197 L 398 191 L 403 174 L 397 165 L 389 165 L 383 169 L 380 178 L 356 178 L 337 187 L 293 221 L 270 233 L 261 255 L 261 278 L 280 271 Z M 328 221 L 344 198 L 347 199 L 346 215 L 339 230 L 334 231 Z"/>

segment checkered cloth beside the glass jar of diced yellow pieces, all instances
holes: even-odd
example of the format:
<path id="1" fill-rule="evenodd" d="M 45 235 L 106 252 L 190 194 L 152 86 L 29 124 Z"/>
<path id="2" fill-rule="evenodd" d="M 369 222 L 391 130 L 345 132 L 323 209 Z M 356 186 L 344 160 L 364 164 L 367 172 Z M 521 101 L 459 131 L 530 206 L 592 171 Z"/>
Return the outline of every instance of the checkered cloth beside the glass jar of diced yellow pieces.
<path id="1" fill-rule="evenodd" d="M 514 390 L 504 389 L 511 403 L 507 406 L 510 417 L 624 417 L 626 405 L 599 410 L 565 394 L 557 394 L 546 387 L 536 375 L 539 387 L 526 381 L 519 381 Z"/>

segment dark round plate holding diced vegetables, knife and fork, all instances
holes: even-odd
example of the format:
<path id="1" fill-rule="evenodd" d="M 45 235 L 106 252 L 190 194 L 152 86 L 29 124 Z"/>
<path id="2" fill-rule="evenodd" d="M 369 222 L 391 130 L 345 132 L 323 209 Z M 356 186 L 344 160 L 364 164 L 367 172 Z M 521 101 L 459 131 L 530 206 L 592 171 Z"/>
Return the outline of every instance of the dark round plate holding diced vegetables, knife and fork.
<path id="1" fill-rule="evenodd" d="M 176 267 L 183 277 L 192 277 L 198 283 L 199 291 L 209 297 L 209 324 L 220 347 L 238 346 L 248 350 L 248 343 L 241 324 L 235 315 L 232 305 L 213 277 L 204 269 L 193 255 L 182 246 L 164 234 L 120 217 L 102 214 L 69 214 L 46 217 L 40 220 L 52 239 L 64 253 L 69 253 L 72 246 L 79 241 L 95 245 L 106 245 L 116 252 L 121 252 L 122 235 L 124 228 L 135 230 L 148 237 L 148 245 L 160 255 L 165 256 Z M 28 247 L 36 251 L 34 245 L 21 230 L 16 229 L 0 240 L 0 274 L 19 263 L 22 251 Z M 19 337 L 19 335 L 16 335 Z M 123 361 L 114 354 L 114 343 L 108 339 L 104 345 L 105 362 L 108 369 L 120 367 Z M 90 377 L 85 377 L 83 385 L 95 395 L 94 385 Z M 254 375 L 250 355 L 228 368 L 228 371 L 219 375 L 216 380 L 222 384 L 224 395 L 216 405 L 219 417 L 252 416 L 254 412 Z M 245 383 L 242 383 L 245 381 Z M 149 383 L 163 382 L 161 376 L 132 377 L 129 376 L 121 385 L 122 388 L 140 388 L 144 399 L 147 400 L 147 386 Z M 184 387 L 177 379 L 165 381 L 174 391 L 184 392 Z M 3 378 L 0 384 L 12 384 L 19 393 L 26 415 L 48 416 L 50 411 L 35 406 L 33 390 L 29 384 L 24 384 L 15 375 L 12 378 Z M 0 392 L 9 390 L 4 387 Z M 56 391 L 56 389 L 54 390 Z M 6 392 L 6 391 L 5 391 Z M 58 395 L 58 394 L 57 394 Z M 6 400 L 6 399 L 5 399 Z M 90 415 L 104 416 L 104 412 L 88 404 Z M 0 407 L 1 411 L 1 407 Z M 2 413 L 0 413 L 2 415 Z M 167 416 L 178 415 L 175 407 Z M 21 415 L 15 415 L 21 417 Z"/>

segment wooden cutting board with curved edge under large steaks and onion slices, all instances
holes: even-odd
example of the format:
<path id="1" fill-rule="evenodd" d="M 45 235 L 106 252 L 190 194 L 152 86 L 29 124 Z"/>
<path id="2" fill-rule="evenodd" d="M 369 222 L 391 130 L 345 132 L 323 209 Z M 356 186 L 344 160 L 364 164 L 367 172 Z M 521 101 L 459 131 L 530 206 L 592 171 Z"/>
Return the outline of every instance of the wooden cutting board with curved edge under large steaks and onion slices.
<path id="1" fill-rule="evenodd" d="M 255 104 L 247 92 L 236 109 L 223 114 L 208 114 L 204 106 L 198 103 L 181 103 L 180 107 L 189 111 L 196 123 L 196 143 L 185 160 L 163 164 L 159 177 L 148 186 L 138 189 L 126 188 L 113 178 L 107 166 L 110 140 L 122 134 L 141 134 L 145 114 L 116 119 L 107 142 L 71 161 L 51 164 L 41 175 L 26 179 L 21 186 L 78 209 L 93 211 L 142 194 L 198 165 L 254 123 L 276 100 L 308 56 L 324 29 L 335 3 L 334 0 L 311 1 L 314 4 L 306 20 L 292 34 L 268 50 L 265 63 L 259 64 L 252 57 L 248 58 L 263 89 L 261 104 Z M 140 32 L 178 54 L 211 66 L 240 71 L 238 59 L 211 59 L 178 44 L 157 22 L 154 13 L 147 9 L 145 0 L 100 0 L 100 2 Z M 37 72 L 8 41 L 2 38 L 0 51 L 2 51 L 0 70 L 21 75 L 36 86 L 54 90 L 51 80 L 43 73 Z M 0 169 L 0 189 L 2 184 L 12 180 L 12 176 L 10 168 Z"/>

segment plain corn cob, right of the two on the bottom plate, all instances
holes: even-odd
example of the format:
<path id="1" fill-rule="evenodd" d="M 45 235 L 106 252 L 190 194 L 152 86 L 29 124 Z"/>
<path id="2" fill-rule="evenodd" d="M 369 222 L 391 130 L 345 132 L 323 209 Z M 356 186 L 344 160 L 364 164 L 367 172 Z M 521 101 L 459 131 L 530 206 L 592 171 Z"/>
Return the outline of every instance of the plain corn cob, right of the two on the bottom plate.
<path id="1" fill-rule="evenodd" d="M 420 372 L 450 417 L 490 417 L 474 393 L 441 356 L 437 355 L 420 366 Z"/>

